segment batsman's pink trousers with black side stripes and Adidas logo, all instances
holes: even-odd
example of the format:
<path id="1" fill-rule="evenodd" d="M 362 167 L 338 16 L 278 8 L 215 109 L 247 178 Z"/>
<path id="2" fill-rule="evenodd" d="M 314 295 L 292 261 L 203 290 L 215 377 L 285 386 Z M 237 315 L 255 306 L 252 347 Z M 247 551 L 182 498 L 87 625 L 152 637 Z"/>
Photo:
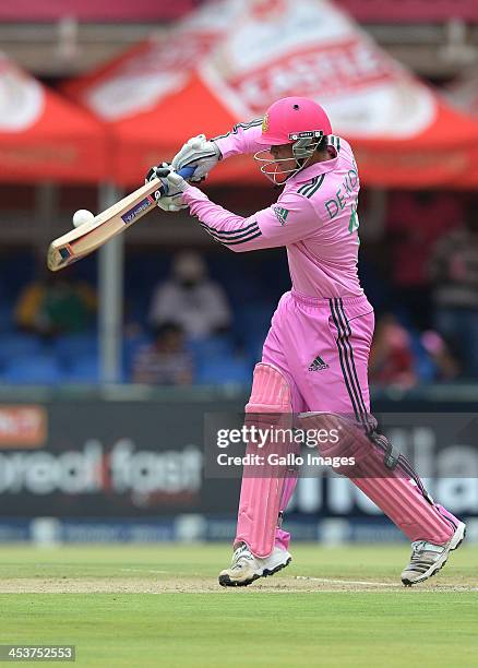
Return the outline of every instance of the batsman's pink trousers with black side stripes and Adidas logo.
<path id="1" fill-rule="evenodd" d="M 367 368 L 374 326 L 367 297 L 313 299 L 286 293 L 262 361 L 286 375 L 294 413 L 370 413 Z"/>

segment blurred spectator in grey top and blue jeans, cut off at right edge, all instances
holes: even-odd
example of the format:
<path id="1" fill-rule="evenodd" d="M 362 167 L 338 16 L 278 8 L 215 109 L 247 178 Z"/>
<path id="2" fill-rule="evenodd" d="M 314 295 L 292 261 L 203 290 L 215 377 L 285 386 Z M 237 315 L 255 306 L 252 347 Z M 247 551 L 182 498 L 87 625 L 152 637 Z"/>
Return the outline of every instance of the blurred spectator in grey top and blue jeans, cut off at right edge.
<path id="1" fill-rule="evenodd" d="M 437 242 L 429 264 L 434 325 L 461 362 L 463 377 L 478 378 L 478 215 Z"/>

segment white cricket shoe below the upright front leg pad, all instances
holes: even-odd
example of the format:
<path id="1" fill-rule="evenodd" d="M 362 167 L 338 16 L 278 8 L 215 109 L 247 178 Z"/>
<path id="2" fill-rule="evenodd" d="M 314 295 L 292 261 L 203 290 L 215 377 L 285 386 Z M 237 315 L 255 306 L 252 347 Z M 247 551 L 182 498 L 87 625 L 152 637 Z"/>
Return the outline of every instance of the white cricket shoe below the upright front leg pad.
<path id="1" fill-rule="evenodd" d="M 244 542 L 241 542 L 232 554 L 230 568 L 220 571 L 219 584 L 223 587 L 244 587 L 259 577 L 267 577 L 285 569 L 291 559 L 287 550 L 278 547 L 275 547 L 265 559 L 260 559 L 252 554 Z"/>

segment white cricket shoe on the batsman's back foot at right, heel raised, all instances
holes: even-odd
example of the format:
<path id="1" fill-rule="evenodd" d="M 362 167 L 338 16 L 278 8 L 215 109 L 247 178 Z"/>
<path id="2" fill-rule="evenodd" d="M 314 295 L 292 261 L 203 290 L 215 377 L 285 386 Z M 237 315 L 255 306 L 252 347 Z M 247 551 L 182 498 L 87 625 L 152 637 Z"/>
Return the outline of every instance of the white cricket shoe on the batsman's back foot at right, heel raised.
<path id="1" fill-rule="evenodd" d="M 404 585 L 410 587 L 435 575 L 445 565 L 450 552 L 461 546 L 465 534 L 466 525 L 461 522 L 445 545 L 415 540 L 411 544 L 410 562 L 402 573 Z"/>

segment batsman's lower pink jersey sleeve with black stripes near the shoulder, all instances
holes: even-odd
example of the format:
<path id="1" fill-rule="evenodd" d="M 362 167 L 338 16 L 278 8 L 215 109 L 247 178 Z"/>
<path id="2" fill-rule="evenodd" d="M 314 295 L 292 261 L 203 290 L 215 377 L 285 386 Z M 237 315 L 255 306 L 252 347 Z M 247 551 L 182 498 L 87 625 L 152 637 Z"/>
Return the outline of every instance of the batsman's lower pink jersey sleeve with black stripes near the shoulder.
<path id="1" fill-rule="evenodd" d="M 235 252 L 277 248 L 311 237 L 320 227 L 312 203 L 291 192 L 247 218 L 214 204 L 198 188 L 183 193 L 190 212 L 213 239 Z"/>

